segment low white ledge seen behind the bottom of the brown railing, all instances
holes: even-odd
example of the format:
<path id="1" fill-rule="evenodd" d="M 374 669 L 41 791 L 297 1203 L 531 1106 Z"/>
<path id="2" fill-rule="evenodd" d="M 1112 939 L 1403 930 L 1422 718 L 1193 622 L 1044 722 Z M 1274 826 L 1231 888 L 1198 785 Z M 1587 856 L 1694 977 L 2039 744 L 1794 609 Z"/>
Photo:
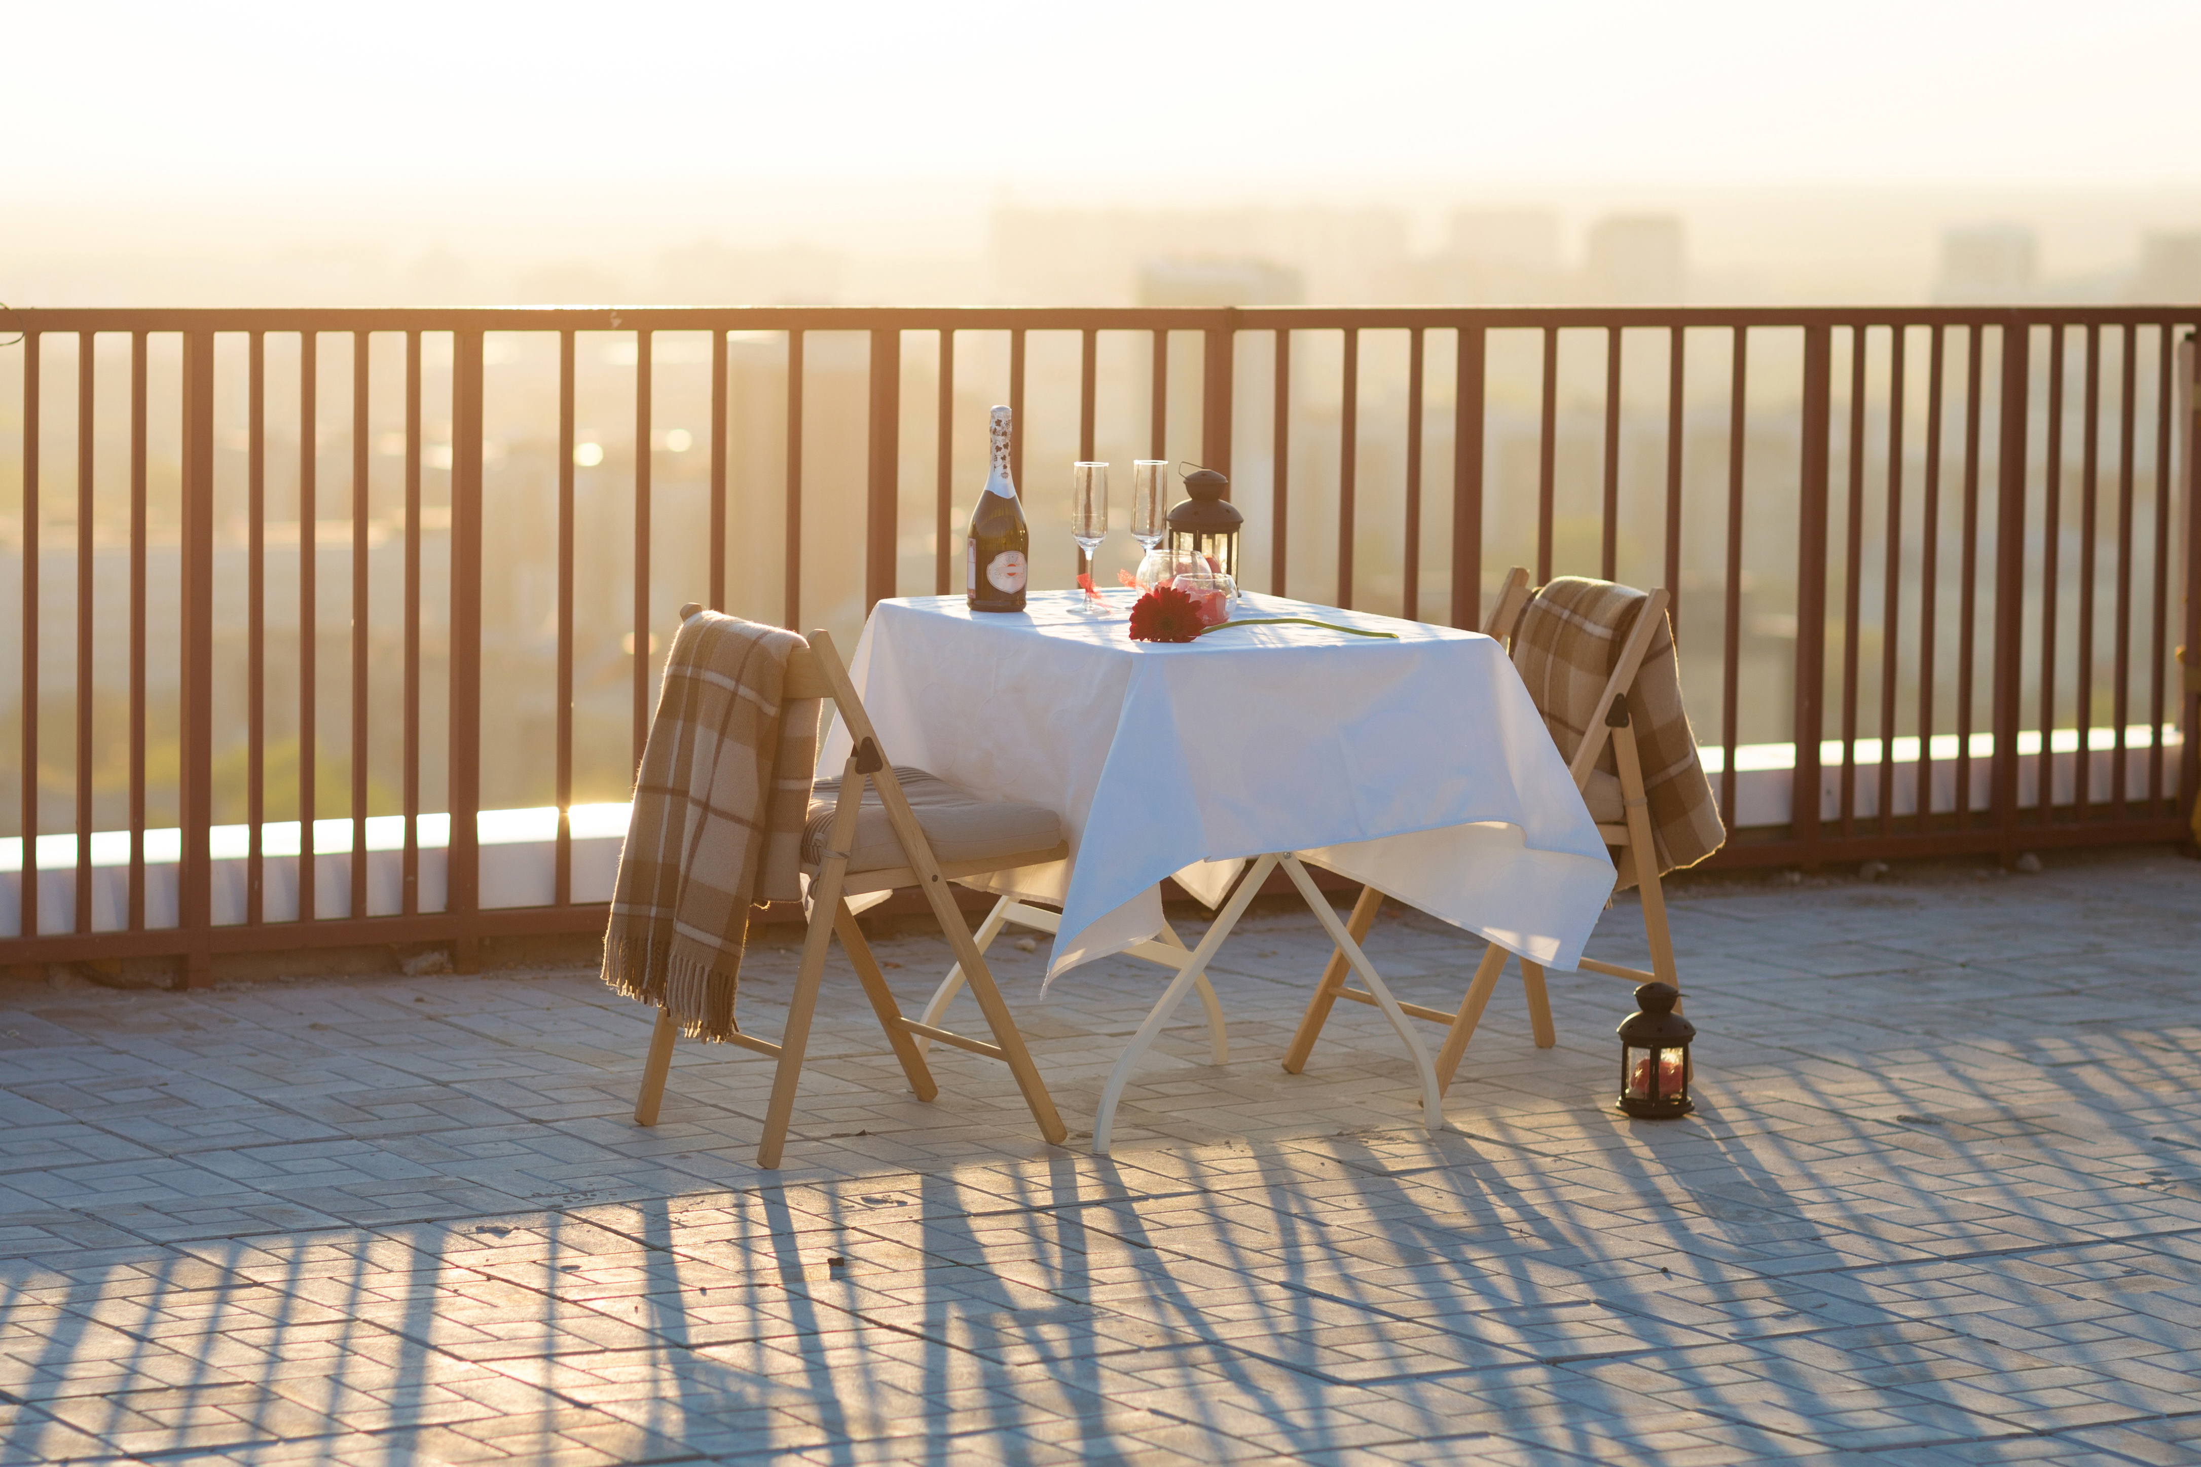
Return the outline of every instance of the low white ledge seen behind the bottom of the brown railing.
<path id="1" fill-rule="evenodd" d="M 2144 726 L 2126 730 L 2126 794 L 2144 796 L 2148 787 L 2148 730 Z M 2177 728 L 2164 728 L 2164 779 L 2168 787 L 2177 783 L 2177 765 L 2183 741 Z M 1719 790 L 1723 750 L 1704 748 L 1706 774 L 1712 790 Z M 1917 739 L 1895 739 L 1895 792 L 1897 816 L 1917 812 Z M 1985 809 L 1992 781 L 1994 735 L 1972 735 L 1972 809 Z M 2038 805 L 2040 792 L 2040 735 L 2018 735 L 2018 805 Z M 2078 787 L 2078 732 L 2058 728 L 2049 737 L 2054 803 L 2069 805 Z M 1838 820 L 1842 814 L 1842 746 L 1820 746 L 1820 820 Z M 2089 732 L 2087 787 L 2093 803 L 2111 798 L 2113 772 L 2117 763 L 2117 732 L 2095 728 Z M 1781 827 L 1789 823 L 1792 770 L 1796 768 L 1794 743 L 1745 743 L 1734 750 L 1734 827 Z M 1930 748 L 1932 809 L 1957 807 L 1957 737 L 1943 735 Z M 1880 816 L 1880 741 L 1858 741 L 1855 774 L 1858 820 Z M 405 816 L 370 816 L 365 823 L 368 847 L 368 917 L 394 917 L 403 911 L 405 880 Z M 478 816 L 482 849 L 484 908 L 548 906 L 557 878 L 557 809 L 541 805 L 535 809 L 484 809 Z M 627 834 L 627 805 L 574 805 L 572 807 L 572 900 L 607 902 L 612 880 L 618 875 L 618 847 Z M 447 814 L 423 814 L 418 823 L 420 845 L 420 891 L 418 911 L 438 913 L 445 908 L 445 853 L 451 836 Z M 247 842 L 244 825 L 216 825 L 209 836 L 213 851 L 211 902 L 216 926 L 244 922 L 244 869 Z M 297 919 L 297 820 L 262 825 L 262 917 L 266 922 Z M 313 823 L 313 875 L 315 915 L 350 917 L 352 902 L 352 823 Z M 183 853 L 183 831 L 145 831 L 145 926 L 176 926 L 176 873 Z M 37 838 L 37 930 L 46 935 L 68 933 L 75 922 L 77 902 L 77 838 Z M 92 834 L 92 930 L 119 933 L 128 926 L 130 902 L 130 831 Z M 22 840 L 0 840 L 0 937 L 22 935 Z"/>

